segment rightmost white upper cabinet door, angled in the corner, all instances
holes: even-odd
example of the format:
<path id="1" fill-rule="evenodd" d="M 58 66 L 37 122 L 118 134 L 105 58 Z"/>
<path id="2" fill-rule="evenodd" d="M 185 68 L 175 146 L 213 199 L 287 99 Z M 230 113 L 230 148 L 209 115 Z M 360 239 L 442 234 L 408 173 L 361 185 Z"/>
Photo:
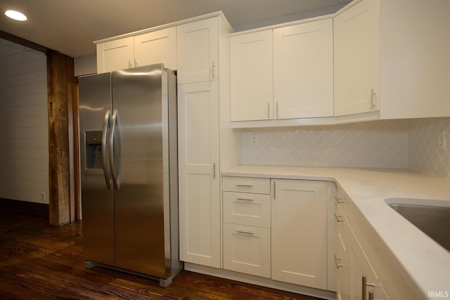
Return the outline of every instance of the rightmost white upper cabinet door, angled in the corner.
<path id="1" fill-rule="evenodd" d="M 379 0 L 364 0 L 334 18 L 335 115 L 379 110 Z"/>

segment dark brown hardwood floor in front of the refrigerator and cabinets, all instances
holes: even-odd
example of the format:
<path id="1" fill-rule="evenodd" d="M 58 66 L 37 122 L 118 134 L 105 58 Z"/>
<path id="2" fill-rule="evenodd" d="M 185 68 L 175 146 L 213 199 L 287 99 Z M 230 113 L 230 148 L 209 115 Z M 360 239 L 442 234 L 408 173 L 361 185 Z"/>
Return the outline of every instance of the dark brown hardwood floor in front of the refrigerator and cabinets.
<path id="1" fill-rule="evenodd" d="M 167 288 L 106 268 L 84 268 L 82 223 L 0 211 L 0 299 L 316 299 L 182 271 Z"/>

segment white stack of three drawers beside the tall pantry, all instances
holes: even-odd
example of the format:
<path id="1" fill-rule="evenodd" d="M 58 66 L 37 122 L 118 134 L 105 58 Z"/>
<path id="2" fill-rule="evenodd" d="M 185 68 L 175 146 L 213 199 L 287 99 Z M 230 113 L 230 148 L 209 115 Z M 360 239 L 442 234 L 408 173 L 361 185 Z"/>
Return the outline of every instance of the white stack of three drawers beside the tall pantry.
<path id="1" fill-rule="evenodd" d="M 270 179 L 224 177 L 224 269 L 270 278 Z"/>

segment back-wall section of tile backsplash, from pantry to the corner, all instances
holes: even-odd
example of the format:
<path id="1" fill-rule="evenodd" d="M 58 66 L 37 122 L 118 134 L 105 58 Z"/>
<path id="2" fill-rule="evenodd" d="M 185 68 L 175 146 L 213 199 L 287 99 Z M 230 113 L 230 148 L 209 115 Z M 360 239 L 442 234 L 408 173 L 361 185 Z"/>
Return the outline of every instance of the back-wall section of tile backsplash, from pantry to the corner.
<path id="1" fill-rule="evenodd" d="M 406 120 L 245 129 L 242 139 L 243 164 L 408 167 Z"/>

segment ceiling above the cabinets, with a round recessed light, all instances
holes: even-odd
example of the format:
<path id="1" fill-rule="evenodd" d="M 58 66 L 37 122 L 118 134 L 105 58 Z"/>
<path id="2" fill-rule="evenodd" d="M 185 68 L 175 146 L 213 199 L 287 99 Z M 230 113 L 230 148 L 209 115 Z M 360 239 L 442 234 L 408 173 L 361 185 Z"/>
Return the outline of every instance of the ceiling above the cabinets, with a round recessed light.
<path id="1" fill-rule="evenodd" d="M 0 30 L 78 57 L 92 41 L 222 11 L 235 31 L 337 11 L 349 0 L 0 0 Z M 4 15 L 15 9 L 27 22 Z M 334 12 L 332 11 L 332 12 Z M 308 13 L 305 13 L 308 12 Z M 239 30 L 238 30 L 239 29 Z"/>

